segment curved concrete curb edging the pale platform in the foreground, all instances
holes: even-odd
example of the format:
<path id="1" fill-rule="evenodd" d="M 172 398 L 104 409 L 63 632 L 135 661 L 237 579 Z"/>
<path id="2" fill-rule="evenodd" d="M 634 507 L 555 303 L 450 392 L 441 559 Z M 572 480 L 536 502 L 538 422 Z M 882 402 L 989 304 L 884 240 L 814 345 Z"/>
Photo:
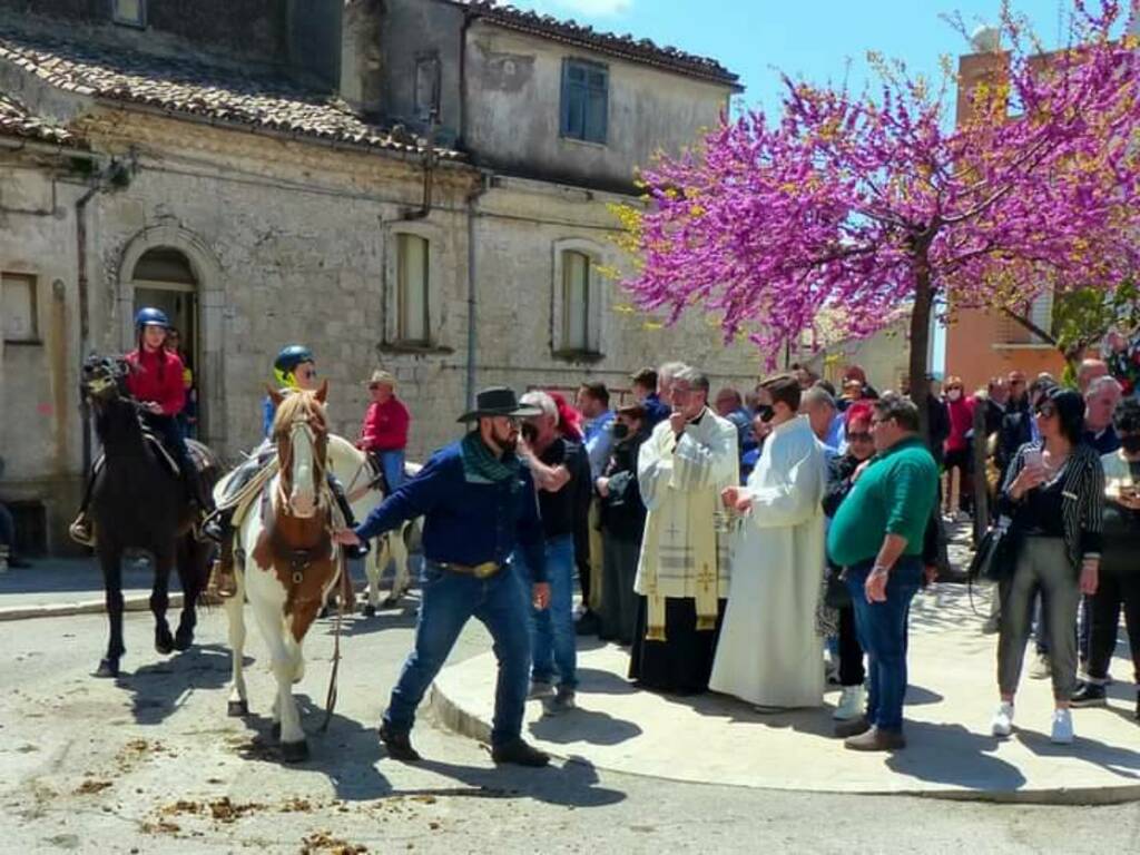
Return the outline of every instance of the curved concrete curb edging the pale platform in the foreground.
<path id="1" fill-rule="evenodd" d="M 429 708 L 437 722 L 464 736 L 490 742 L 491 728 L 487 722 L 478 715 L 469 712 L 458 703 L 448 698 L 438 683 L 431 687 Z M 556 757 L 567 763 L 589 763 L 581 757 L 568 757 L 556 750 L 551 750 L 548 744 L 543 746 L 552 757 Z M 605 764 L 591 764 L 595 768 L 613 772 L 624 775 L 636 775 L 657 781 L 670 781 L 676 783 L 697 784 L 698 782 L 686 777 L 668 777 L 666 775 L 653 775 L 645 772 L 632 769 L 610 768 Z M 789 792 L 820 792 L 832 796 L 910 796 L 912 798 L 944 799 L 950 801 L 979 801 L 990 804 L 1024 804 L 1024 805 L 1119 805 L 1131 801 L 1140 801 L 1140 783 L 1119 784 L 1113 787 L 1077 787 L 1077 788 L 1040 788 L 1034 790 L 979 790 L 979 789 L 910 789 L 901 787 L 897 789 L 828 789 L 828 788 L 801 788 L 801 787 L 749 787 L 746 784 L 707 781 L 724 787 L 738 787 L 741 789 L 755 790 L 784 790 Z"/>

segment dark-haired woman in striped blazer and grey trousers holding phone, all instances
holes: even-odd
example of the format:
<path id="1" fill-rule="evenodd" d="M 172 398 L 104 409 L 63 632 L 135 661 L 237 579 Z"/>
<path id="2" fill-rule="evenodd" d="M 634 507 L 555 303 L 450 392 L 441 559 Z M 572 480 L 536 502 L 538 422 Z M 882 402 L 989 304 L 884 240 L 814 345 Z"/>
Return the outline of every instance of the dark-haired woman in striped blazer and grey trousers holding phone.
<path id="1" fill-rule="evenodd" d="M 1013 730 L 1013 695 L 1029 637 L 1033 597 L 1040 588 L 1049 637 L 1054 710 L 1050 739 L 1073 741 L 1069 700 L 1076 691 L 1076 613 L 1081 594 L 1097 592 L 1105 512 L 1105 472 L 1093 448 L 1082 442 L 1084 399 L 1052 389 L 1037 402 L 1041 439 L 1018 449 L 1005 474 L 1002 504 L 1012 518 L 1018 551 L 1001 581 L 997 689 L 1001 703 L 992 732 Z"/>

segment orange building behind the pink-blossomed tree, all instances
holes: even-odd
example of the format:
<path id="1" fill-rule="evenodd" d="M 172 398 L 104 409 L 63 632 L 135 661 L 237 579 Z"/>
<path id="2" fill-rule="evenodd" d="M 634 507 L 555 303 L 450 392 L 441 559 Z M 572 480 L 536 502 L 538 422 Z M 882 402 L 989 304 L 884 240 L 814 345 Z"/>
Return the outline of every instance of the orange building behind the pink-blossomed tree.
<path id="1" fill-rule="evenodd" d="M 1005 67 L 1004 55 L 994 50 L 996 34 L 975 36 L 976 54 L 958 60 L 958 112 L 961 124 L 970 112 L 970 93 L 982 83 L 995 83 Z M 1040 63 L 1048 57 L 1039 57 Z M 946 374 L 958 375 L 968 390 L 984 386 L 991 376 L 1013 369 L 1031 380 L 1042 372 L 1060 378 L 1065 359 L 1060 352 L 999 310 L 955 310 L 946 329 Z M 1042 329 L 1052 323 L 1052 294 L 1034 301 L 1029 317 Z"/>

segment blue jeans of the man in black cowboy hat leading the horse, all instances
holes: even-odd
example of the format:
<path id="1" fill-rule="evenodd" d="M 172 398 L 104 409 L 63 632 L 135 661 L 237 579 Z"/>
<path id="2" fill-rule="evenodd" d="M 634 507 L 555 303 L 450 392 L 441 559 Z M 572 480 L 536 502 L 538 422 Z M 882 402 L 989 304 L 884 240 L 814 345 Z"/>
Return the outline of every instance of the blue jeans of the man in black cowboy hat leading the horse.
<path id="1" fill-rule="evenodd" d="M 420 581 L 423 593 L 416 621 L 416 645 L 392 690 L 384 724 L 394 733 L 412 730 L 416 707 L 443 667 L 463 627 L 474 617 L 491 634 L 498 659 L 491 744 L 502 746 L 519 739 L 530 668 L 527 627 L 530 596 L 523 592 L 519 575 L 506 567 L 488 579 L 477 579 L 450 572 L 426 560 Z"/>

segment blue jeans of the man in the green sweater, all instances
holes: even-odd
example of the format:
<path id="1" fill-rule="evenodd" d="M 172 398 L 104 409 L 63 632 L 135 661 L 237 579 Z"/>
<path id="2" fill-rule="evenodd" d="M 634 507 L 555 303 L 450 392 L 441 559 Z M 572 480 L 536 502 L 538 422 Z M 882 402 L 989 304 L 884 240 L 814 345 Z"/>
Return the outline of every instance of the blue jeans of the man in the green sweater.
<path id="1" fill-rule="evenodd" d="M 855 604 L 855 632 L 866 651 L 866 720 L 883 731 L 903 728 L 906 695 L 906 621 L 922 583 L 922 560 L 904 555 L 887 579 L 887 601 L 869 603 L 863 586 L 873 561 L 847 568 L 847 588 Z"/>

